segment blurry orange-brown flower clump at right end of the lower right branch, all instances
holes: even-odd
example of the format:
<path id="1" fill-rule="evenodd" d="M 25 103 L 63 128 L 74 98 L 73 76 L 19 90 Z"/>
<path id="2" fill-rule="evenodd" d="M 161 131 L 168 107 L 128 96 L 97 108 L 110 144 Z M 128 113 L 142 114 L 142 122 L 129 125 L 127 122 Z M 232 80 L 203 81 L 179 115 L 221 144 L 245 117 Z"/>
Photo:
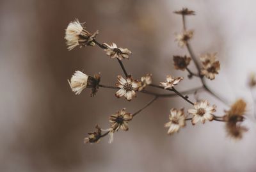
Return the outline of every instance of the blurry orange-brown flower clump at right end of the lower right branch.
<path id="1" fill-rule="evenodd" d="M 226 130 L 228 136 L 234 139 L 241 139 L 243 133 L 248 129 L 241 126 L 241 122 L 244 120 L 244 113 L 246 111 L 246 102 L 244 100 L 237 100 L 231 107 L 229 111 L 225 111 L 225 116 L 223 120 L 226 121 Z"/>

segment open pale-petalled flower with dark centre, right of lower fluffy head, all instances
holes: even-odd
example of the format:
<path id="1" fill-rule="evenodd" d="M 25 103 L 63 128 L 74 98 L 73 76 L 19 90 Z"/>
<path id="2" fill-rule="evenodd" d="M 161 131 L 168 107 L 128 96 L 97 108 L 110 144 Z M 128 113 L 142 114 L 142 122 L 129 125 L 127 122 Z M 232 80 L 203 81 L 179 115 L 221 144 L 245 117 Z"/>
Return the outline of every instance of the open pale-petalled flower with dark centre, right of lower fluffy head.
<path id="1" fill-rule="evenodd" d="M 120 90 L 116 92 L 117 98 L 124 96 L 128 101 L 131 101 L 132 97 L 136 97 L 135 91 L 139 88 L 138 81 L 134 81 L 131 75 L 129 75 L 127 79 L 124 79 L 124 77 L 118 75 L 117 80 L 118 83 L 116 83 L 116 86 L 120 88 Z"/>

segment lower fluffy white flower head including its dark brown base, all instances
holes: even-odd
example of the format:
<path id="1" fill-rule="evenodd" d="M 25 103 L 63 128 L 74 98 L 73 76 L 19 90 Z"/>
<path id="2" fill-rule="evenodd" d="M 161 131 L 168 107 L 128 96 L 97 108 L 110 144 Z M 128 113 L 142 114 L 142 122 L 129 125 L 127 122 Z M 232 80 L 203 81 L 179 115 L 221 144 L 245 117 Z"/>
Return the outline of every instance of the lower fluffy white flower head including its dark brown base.
<path id="1" fill-rule="evenodd" d="M 92 88 L 91 96 L 93 97 L 99 88 L 100 73 L 95 74 L 94 77 L 88 76 L 83 72 L 77 70 L 71 77 L 68 83 L 70 88 L 76 95 L 79 95 L 84 88 Z"/>

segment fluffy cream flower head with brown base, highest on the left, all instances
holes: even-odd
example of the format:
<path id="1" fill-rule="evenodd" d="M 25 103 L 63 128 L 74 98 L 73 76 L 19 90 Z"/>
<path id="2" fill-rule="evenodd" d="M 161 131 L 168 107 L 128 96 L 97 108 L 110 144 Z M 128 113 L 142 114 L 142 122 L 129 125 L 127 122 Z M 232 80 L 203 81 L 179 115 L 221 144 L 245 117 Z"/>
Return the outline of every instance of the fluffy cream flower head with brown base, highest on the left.
<path id="1" fill-rule="evenodd" d="M 74 22 L 70 22 L 66 29 L 65 39 L 67 40 L 68 50 L 74 49 L 74 47 L 85 47 L 87 45 L 95 45 L 93 40 L 99 31 L 91 34 L 86 30 L 86 27 L 79 22 L 78 19 Z"/>

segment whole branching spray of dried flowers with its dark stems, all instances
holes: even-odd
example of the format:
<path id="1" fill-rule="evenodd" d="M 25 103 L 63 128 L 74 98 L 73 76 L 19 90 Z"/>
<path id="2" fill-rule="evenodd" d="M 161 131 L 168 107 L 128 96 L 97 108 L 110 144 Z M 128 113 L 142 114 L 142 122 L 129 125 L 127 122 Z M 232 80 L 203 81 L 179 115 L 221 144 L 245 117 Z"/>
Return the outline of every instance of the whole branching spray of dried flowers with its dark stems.
<path id="1" fill-rule="evenodd" d="M 205 79 L 213 80 L 220 71 L 220 61 L 216 58 L 216 53 L 207 53 L 203 54 L 199 58 L 199 62 L 196 59 L 196 56 L 193 54 L 192 49 L 189 45 L 189 42 L 193 38 L 193 30 L 186 29 L 185 17 L 188 15 L 195 15 L 195 12 L 188 10 L 188 8 L 183 8 L 180 11 L 174 12 L 182 16 L 183 30 L 180 34 L 176 34 L 175 40 L 178 42 L 179 47 L 186 47 L 189 52 L 189 56 L 173 56 L 174 68 L 176 70 L 182 70 L 188 72 L 189 79 L 192 77 L 198 77 L 202 81 L 202 87 L 205 91 L 211 93 L 214 97 L 218 98 L 220 101 L 223 101 L 221 97 L 214 94 L 205 84 Z M 173 134 L 179 132 L 180 128 L 186 126 L 186 121 L 191 121 L 193 125 L 196 123 L 205 123 L 205 121 L 221 121 L 226 123 L 226 129 L 228 136 L 234 138 L 241 138 L 243 132 L 247 129 L 246 127 L 241 126 L 241 123 L 244 120 L 244 114 L 246 112 L 246 103 L 244 100 L 237 100 L 228 111 L 225 111 L 223 116 L 216 116 L 216 106 L 210 105 L 207 100 L 197 100 L 197 102 L 191 102 L 189 100 L 188 91 L 179 92 L 174 88 L 177 86 L 183 77 L 173 77 L 172 75 L 167 75 L 165 82 L 159 82 L 159 85 L 152 83 L 152 74 L 147 74 L 142 76 L 141 79 L 133 79 L 132 75 L 127 74 L 122 60 L 129 59 L 129 56 L 132 54 L 129 49 L 121 48 L 116 45 L 116 43 L 99 43 L 96 40 L 96 35 L 99 34 L 99 31 L 95 33 L 90 33 L 86 30 L 84 24 L 81 24 L 79 20 L 70 22 L 66 29 L 65 39 L 67 40 L 68 50 L 72 50 L 75 47 L 86 47 L 88 45 L 95 46 L 97 45 L 106 52 L 106 55 L 111 59 L 116 59 L 119 65 L 122 67 L 124 72 L 124 77 L 122 75 L 117 75 L 117 82 L 115 86 L 106 86 L 100 84 L 100 73 L 95 74 L 94 76 L 86 75 L 81 71 L 76 71 L 72 75 L 68 83 L 70 88 L 76 95 L 81 94 L 85 88 L 92 88 L 91 96 L 93 97 L 97 90 L 101 88 L 116 89 L 115 96 L 117 98 L 125 97 L 126 100 L 131 101 L 132 98 L 136 97 L 138 92 L 152 95 L 154 98 L 148 102 L 144 107 L 139 109 L 136 113 L 127 113 L 125 108 L 117 111 L 115 114 L 109 116 L 110 126 L 108 129 L 101 129 L 99 125 L 96 125 L 95 131 L 88 133 L 88 137 L 85 138 L 85 143 L 98 143 L 100 138 L 104 136 L 109 137 L 109 143 L 113 141 L 113 134 L 119 129 L 127 131 L 129 129 L 128 123 L 131 121 L 136 114 L 140 113 L 143 109 L 150 106 L 152 102 L 161 97 L 173 97 L 179 96 L 191 104 L 192 108 L 188 109 L 188 114 L 185 113 L 184 108 L 170 110 L 169 121 L 164 125 L 168 127 L 168 134 Z M 189 69 L 189 64 L 193 61 L 196 65 L 197 72 L 192 72 Z M 255 87 L 256 81 L 255 77 L 252 77 L 250 81 L 250 86 Z M 172 94 L 159 94 L 151 91 L 147 91 L 147 86 L 151 86 L 157 89 L 164 89 L 166 91 L 172 91 Z M 194 93 L 198 90 L 195 88 L 191 90 L 191 93 Z M 104 132 L 104 133 L 102 133 Z"/>

